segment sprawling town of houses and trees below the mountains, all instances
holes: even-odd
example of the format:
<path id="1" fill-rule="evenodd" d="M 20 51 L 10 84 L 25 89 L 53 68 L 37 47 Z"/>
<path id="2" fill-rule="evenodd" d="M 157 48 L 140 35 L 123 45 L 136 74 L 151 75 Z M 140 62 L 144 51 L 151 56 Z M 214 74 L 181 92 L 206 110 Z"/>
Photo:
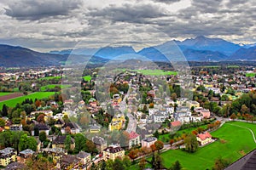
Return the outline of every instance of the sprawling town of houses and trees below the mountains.
<path id="1" fill-rule="evenodd" d="M 251 65 L 193 66 L 189 89 L 172 69 L 119 69 L 106 86 L 99 70 L 84 70 L 79 93 L 61 66 L 0 70 L 1 168 L 182 169 L 174 151 L 230 144 L 218 133 L 229 125 L 256 127 Z M 234 160 L 212 150 L 202 168 L 228 167 L 249 145 Z"/>

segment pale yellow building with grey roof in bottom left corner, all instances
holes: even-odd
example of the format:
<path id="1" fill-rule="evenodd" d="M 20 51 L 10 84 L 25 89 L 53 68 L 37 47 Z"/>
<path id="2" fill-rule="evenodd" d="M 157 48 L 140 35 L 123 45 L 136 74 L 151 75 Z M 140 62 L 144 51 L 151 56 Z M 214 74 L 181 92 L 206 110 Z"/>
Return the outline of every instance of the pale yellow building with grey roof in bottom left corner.
<path id="1" fill-rule="evenodd" d="M 0 150 L 0 163 L 1 166 L 5 167 L 10 162 L 17 161 L 17 151 L 13 148 L 5 148 Z"/>

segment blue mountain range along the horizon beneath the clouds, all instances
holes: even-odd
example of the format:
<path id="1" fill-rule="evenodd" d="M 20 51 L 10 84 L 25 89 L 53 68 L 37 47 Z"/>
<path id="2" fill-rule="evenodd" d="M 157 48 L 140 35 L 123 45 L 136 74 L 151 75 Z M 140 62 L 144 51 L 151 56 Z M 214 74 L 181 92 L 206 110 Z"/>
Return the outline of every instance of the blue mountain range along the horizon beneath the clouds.
<path id="1" fill-rule="evenodd" d="M 220 38 L 195 37 L 184 41 L 171 41 L 189 61 L 229 61 L 229 60 L 256 60 L 256 44 L 244 45 L 228 42 Z M 135 51 L 131 46 L 63 49 L 40 53 L 29 48 L 15 47 L 0 44 L 0 66 L 49 66 L 64 64 L 69 55 L 73 55 L 76 62 L 90 59 L 93 64 L 108 62 L 117 56 L 125 54 L 139 54 L 153 61 L 166 61 L 166 53 L 171 42 L 158 46 L 143 48 Z M 159 49 L 164 49 L 165 54 Z"/>

